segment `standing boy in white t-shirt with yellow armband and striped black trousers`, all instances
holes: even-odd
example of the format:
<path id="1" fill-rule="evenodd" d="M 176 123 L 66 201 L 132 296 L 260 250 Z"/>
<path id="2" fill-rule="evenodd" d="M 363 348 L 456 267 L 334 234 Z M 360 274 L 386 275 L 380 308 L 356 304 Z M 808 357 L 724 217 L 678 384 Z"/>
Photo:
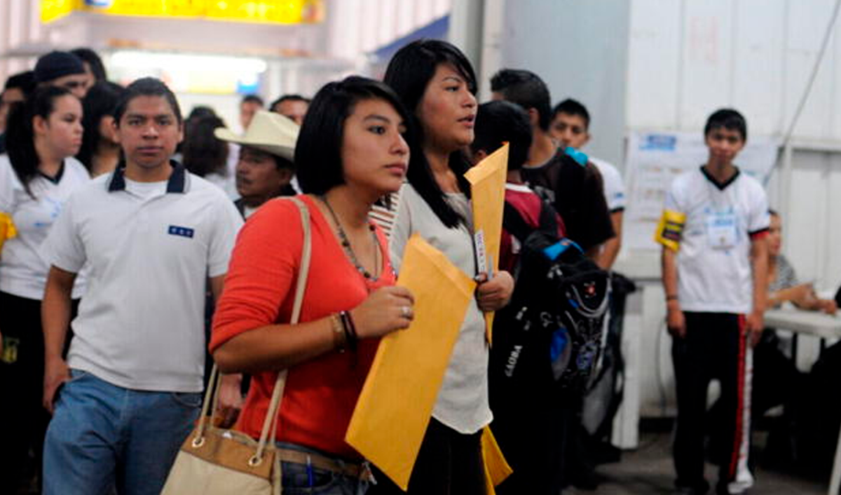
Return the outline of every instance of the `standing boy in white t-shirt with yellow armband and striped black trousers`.
<path id="1" fill-rule="evenodd" d="M 675 485 L 706 493 L 704 435 L 707 387 L 721 383 L 725 421 L 717 493 L 753 485 L 748 471 L 751 346 L 762 332 L 768 202 L 764 189 L 734 164 L 747 124 L 732 109 L 711 114 L 704 129 L 706 164 L 681 174 L 666 196 L 655 239 L 663 245 L 663 285 L 677 388 Z"/>

